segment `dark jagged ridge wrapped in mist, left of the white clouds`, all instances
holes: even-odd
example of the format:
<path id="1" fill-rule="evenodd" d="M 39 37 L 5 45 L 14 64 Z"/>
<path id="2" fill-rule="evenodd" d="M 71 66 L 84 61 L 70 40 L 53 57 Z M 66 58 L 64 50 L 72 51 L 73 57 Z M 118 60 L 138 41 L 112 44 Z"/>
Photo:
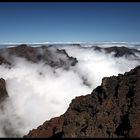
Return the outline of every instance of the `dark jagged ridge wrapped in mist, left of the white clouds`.
<path id="1" fill-rule="evenodd" d="M 33 63 L 44 62 L 51 67 L 74 66 L 78 60 L 69 56 L 65 50 L 54 47 L 31 47 L 21 44 L 16 47 L 0 49 L 0 64 L 12 64 L 13 56 L 22 57 Z"/>

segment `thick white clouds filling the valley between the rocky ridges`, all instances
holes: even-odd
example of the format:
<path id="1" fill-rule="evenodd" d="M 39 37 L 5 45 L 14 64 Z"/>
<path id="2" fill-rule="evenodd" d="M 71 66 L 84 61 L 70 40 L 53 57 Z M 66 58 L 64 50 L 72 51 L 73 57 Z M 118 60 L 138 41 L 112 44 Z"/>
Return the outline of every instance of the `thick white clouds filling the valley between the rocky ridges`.
<path id="1" fill-rule="evenodd" d="M 140 64 L 133 57 L 115 58 L 113 53 L 92 48 L 59 49 L 76 57 L 78 63 L 69 69 L 52 68 L 44 62 L 15 57 L 13 67 L 0 65 L 0 77 L 6 80 L 9 94 L 4 110 L 0 109 L 0 137 L 22 137 L 44 121 L 65 113 L 73 98 L 90 94 L 103 77 L 123 74 Z"/>

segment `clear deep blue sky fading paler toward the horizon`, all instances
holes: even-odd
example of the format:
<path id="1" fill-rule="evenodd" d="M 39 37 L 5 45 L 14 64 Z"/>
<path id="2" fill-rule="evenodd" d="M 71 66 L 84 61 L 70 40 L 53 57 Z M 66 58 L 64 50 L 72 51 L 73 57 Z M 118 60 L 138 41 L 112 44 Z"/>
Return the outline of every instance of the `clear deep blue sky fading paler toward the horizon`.
<path id="1" fill-rule="evenodd" d="M 0 3 L 0 43 L 140 42 L 140 3 Z"/>

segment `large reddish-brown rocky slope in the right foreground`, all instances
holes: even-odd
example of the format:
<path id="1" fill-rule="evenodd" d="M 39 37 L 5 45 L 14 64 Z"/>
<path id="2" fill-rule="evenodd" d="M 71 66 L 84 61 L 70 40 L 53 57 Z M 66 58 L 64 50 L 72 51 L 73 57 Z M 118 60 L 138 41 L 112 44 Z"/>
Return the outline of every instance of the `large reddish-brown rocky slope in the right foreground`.
<path id="1" fill-rule="evenodd" d="M 105 77 L 86 96 L 72 100 L 68 110 L 24 137 L 140 137 L 140 66 L 124 75 Z"/>

